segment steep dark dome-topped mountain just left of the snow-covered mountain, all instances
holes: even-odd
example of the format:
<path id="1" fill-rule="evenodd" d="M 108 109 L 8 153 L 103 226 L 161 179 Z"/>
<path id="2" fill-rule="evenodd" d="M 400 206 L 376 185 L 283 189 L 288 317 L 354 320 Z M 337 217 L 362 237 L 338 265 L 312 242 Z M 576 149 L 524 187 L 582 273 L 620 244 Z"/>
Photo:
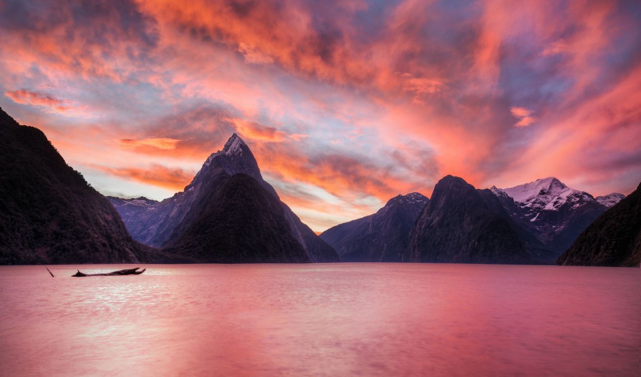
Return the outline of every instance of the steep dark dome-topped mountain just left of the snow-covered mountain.
<path id="1" fill-rule="evenodd" d="M 527 264 L 531 256 L 510 222 L 462 178 L 434 187 L 410 232 L 412 262 Z"/>

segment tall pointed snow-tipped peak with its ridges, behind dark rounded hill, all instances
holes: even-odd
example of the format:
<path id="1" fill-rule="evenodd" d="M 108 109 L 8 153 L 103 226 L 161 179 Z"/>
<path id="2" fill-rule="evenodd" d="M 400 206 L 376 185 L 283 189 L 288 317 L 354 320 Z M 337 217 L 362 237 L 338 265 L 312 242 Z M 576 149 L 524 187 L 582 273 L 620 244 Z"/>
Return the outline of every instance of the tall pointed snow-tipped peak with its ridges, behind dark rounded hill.
<path id="1" fill-rule="evenodd" d="M 338 262 L 337 253 L 321 240 L 308 226 L 282 203 L 269 183 L 263 180 L 258 163 L 247 144 L 231 135 L 221 151 L 212 153 L 203 163 L 192 182 L 183 192 L 159 203 L 134 202 L 132 199 L 111 197 L 110 201 L 121 214 L 127 229 L 135 240 L 154 247 L 168 247 L 203 214 L 206 203 L 219 187 L 220 181 L 235 174 L 254 178 L 271 196 L 275 197 L 287 220 L 290 233 L 301 244 L 312 262 Z"/>

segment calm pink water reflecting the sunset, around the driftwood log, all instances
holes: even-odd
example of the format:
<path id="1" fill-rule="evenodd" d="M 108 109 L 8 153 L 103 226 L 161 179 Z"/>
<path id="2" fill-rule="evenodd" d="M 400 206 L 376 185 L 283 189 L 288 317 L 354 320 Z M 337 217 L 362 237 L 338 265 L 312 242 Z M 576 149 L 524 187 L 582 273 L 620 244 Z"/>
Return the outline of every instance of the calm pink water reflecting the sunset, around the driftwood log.
<path id="1" fill-rule="evenodd" d="M 82 265 L 108 272 L 129 265 Z M 3 376 L 635 376 L 640 269 L 0 267 Z"/>

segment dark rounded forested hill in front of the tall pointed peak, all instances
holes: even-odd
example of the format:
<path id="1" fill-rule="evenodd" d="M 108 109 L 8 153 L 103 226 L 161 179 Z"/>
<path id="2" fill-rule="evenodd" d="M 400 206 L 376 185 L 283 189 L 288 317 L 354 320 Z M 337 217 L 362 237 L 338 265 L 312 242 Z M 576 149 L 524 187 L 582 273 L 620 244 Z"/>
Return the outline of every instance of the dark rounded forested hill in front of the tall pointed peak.
<path id="1" fill-rule="evenodd" d="M 168 253 L 209 263 L 309 262 L 279 200 L 251 176 L 223 177 L 203 204 Z"/>

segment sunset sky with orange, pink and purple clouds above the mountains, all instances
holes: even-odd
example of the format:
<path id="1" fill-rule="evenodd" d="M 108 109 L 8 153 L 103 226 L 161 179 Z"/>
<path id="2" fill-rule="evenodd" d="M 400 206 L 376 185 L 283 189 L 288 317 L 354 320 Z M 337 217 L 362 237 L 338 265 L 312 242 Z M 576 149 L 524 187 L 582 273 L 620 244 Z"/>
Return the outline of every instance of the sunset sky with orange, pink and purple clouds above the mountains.
<path id="1" fill-rule="evenodd" d="M 0 0 L 0 106 L 105 195 L 170 197 L 237 132 L 313 230 L 554 176 L 641 180 L 638 1 Z"/>

